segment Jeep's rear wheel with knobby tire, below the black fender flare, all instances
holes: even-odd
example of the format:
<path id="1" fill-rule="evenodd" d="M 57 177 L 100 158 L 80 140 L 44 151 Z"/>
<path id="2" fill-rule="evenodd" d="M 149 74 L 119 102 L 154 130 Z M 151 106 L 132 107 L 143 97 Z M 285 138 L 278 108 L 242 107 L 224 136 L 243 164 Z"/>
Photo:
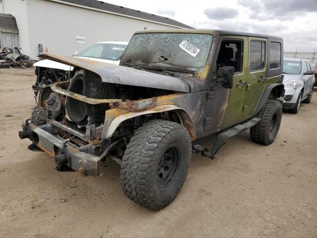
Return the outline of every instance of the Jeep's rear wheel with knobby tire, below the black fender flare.
<path id="1" fill-rule="evenodd" d="M 263 145 L 271 144 L 278 132 L 282 119 L 282 105 L 276 100 L 268 99 L 257 114 L 261 121 L 259 124 L 251 127 L 251 140 Z"/>

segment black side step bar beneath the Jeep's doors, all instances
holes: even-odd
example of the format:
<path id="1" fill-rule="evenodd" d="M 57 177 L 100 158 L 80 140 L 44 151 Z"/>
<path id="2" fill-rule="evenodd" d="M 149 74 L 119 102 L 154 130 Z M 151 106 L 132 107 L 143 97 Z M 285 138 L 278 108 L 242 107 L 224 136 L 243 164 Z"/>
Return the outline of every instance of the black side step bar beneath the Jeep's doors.
<path id="1" fill-rule="evenodd" d="M 213 159 L 214 155 L 218 152 L 220 147 L 226 143 L 227 139 L 251 128 L 252 126 L 255 126 L 260 121 L 261 121 L 260 118 L 253 118 L 253 119 L 251 119 L 243 124 L 236 125 L 230 129 L 226 130 L 226 131 L 223 131 L 223 132 L 217 134 L 216 141 L 210 150 L 202 147 L 199 144 L 194 144 L 193 145 L 193 149 L 194 149 L 193 152 L 196 152 L 196 153 L 201 152 L 202 156 L 206 156 L 206 157 Z"/>

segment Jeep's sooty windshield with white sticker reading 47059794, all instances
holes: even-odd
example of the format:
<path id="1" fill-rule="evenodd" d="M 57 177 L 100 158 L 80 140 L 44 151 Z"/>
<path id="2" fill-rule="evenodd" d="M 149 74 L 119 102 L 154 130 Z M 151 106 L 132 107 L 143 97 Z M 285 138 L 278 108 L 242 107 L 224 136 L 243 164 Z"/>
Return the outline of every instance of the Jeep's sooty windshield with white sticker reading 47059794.
<path id="1" fill-rule="evenodd" d="M 141 33 L 132 37 L 121 62 L 151 63 L 152 67 L 204 71 L 212 35 Z"/>

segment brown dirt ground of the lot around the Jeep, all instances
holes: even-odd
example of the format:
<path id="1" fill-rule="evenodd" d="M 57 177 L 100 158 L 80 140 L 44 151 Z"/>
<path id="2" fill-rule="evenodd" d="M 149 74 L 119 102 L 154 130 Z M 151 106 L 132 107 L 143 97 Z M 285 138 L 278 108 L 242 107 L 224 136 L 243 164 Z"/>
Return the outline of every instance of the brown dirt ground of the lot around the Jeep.
<path id="1" fill-rule="evenodd" d="M 0 69 L 1 238 L 317 238 L 316 92 L 298 115 L 283 113 L 270 146 L 245 132 L 214 160 L 194 154 L 180 194 L 153 212 L 123 195 L 115 162 L 83 177 L 27 149 L 18 131 L 34 82 L 34 69 Z"/>

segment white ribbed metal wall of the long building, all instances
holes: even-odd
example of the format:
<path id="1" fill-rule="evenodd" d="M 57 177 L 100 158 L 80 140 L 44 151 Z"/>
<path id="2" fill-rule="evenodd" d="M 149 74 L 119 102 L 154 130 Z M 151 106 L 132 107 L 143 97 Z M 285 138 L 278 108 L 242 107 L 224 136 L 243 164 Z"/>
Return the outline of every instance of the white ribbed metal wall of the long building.
<path id="1" fill-rule="evenodd" d="M 145 27 L 147 30 L 176 28 L 49 0 L 5 1 L 5 13 L 17 19 L 20 39 L 29 41 L 29 49 L 21 42 L 23 53 L 33 59 L 37 59 L 38 44 L 43 45 L 44 53 L 47 48 L 49 54 L 70 56 L 94 42 L 129 41 L 135 31 Z M 9 2 L 24 4 L 26 10 L 21 14 L 14 7 L 7 7 Z M 86 44 L 77 44 L 76 36 L 84 36 Z"/>

